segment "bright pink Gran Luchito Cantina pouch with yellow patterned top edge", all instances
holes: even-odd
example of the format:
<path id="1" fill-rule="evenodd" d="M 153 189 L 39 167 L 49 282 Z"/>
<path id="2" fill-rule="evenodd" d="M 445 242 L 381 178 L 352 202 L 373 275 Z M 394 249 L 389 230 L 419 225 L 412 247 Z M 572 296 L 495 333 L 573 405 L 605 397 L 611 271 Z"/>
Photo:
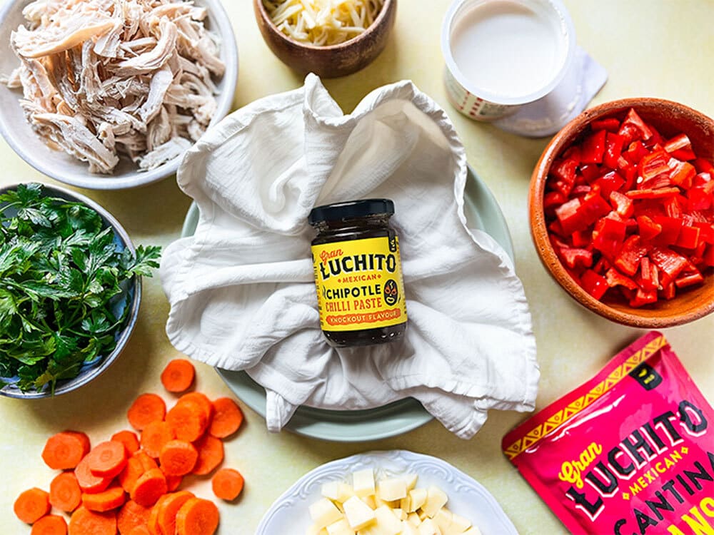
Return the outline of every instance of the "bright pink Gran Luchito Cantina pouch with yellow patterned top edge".
<path id="1" fill-rule="evenodd" d="M 714 535 L 714 410 L 660 332 L 502 447 L 573 534 Z"/>

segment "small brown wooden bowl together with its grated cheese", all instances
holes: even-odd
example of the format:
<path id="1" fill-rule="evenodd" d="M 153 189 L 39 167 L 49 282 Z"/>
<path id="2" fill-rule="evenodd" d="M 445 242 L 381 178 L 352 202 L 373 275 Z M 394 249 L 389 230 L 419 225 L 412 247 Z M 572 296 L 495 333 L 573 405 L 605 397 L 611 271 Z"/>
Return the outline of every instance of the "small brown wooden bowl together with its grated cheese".
<path id="1" fill-rule="evenodd" d="M 383 51 L 397 0 L 253 0 L 273 54 L 299 73 L 336 78 L 365 68 Z"/>

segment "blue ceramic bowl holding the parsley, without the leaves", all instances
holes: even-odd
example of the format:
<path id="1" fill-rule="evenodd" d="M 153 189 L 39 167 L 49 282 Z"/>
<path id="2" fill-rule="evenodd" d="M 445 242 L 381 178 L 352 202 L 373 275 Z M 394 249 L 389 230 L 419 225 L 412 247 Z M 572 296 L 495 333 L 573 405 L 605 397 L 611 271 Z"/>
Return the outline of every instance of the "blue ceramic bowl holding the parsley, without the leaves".
<path id="1" fill-rule="evenodd" d="M 8 190 L 14 190 L 15 188 L 17 188 L 16 184 L 0 188 L 0 194 L 5 193 Z M 119 224 L 119 221 L 117 221 L 114 216 L 107 212 L 104 208 L 95 203 L 94 200 L 91 200 L 84 195 L 80 195 L 79 193 L 75 193 L 74 191 L 46 184 L 43 184 L 43 194 L 63 198 L 72 202 L 83 203 L 89 208 L 95 210 L 104 221 L 105 228 L 111 227 L 114 230 L 114 243 L 116 243 L 116 249 L 118 251 L 129 249 L 132 253 L 135 252 L 134 245 L 131 243 L 129 235 Z M 79 371 L 79 374 L 77 377 L 74 377 L 74 379 L 58 381 L 54 389 L 55 396 L 76 390 L 79 387 L 84 386 L 84 384 L 89 383 L 92 379 L 99 377 L 99 375 L 111 366 L 119 355 L 121 355 L 122 350 L 124 350 L 124 347 L 126 346 L 126 342 L 129 341 L 131 332 L 134 331 L 136 317 L 139 315 L 139 302 L 141 301 L 141 277 L 135 276 L 131 280 L 125 281 L 122 284 L 122 290 L 123 291 L 119 295 L 116 295 L 112 300 L 114 307 L 112 312 L 114 312 L 115 315 L 120 316 L 124 314 L 126 307 L 129 307 L 129 311 L 126 313 L 124 323 L 114 334 L 114 338 L 116 340 L 116 347 L 114 348 L 114 351 L 109 353 L 109 355 L 99 355 L 99 357 L 96 357 L 91 362 L 85 362 L 84 366 Z M 2 379 L 4 382 L 8 382 L 9 384 L 6 384 L 0 389 L 0 395 L 21 399 L 37 399 L 52 396 L 49 389 L 22 392 L 21 389 L 13 384 L 13 381 L 17 380 L 16 377 L 3 377 Z"/>

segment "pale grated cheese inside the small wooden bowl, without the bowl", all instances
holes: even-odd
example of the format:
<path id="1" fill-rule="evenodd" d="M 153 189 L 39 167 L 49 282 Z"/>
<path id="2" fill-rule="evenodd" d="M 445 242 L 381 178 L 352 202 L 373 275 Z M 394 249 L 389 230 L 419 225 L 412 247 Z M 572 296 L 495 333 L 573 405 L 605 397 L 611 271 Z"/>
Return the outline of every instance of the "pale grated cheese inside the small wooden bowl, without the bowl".
<path id="1" fill-rule="evenodd" d="M 363 33 L 384 0 L 263 0 L 271 21 L 286 36 L 316 46 L 341 44 Z"/>

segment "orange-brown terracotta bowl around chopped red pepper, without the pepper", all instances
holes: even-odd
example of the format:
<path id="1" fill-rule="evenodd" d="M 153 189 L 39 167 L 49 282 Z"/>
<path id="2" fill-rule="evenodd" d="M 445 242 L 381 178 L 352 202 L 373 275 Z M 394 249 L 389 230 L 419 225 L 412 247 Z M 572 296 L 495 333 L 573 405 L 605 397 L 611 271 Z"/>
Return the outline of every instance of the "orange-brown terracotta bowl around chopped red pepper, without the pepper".
<path id="1" fill-rule="evenodd" d="M 629 108 L 635 108 L 643 120 L 652 124 L 664 137 L 682 132 L 687 134 L 695 153 L 714 161 L 714 120 L 682 104 L 658 98 L 625 98 L 586 110 L 555 135 L 533 170 L 528 195 L 531 235 L 540 260 L 550 275 L 581 305 L 623 325 L 647 329 L 672 327 L 696 320 L 714 310 L 712 270 L 705 273 L 703 285 L 678 290 L 672 300 L 658 300 L 652 305 L 634 308 L 630 307 L 623 297 L 610 297 L 613 292 L 608 292 L 600 302 L 585 292 L 565 271 L 550 245 L 548 229 L 545 226 L 543 194 L 545 179 L 548 178 L 553 160 L 574 141 L 578 141 L 590 121 L 605 117 L 622 119 Z"/>

